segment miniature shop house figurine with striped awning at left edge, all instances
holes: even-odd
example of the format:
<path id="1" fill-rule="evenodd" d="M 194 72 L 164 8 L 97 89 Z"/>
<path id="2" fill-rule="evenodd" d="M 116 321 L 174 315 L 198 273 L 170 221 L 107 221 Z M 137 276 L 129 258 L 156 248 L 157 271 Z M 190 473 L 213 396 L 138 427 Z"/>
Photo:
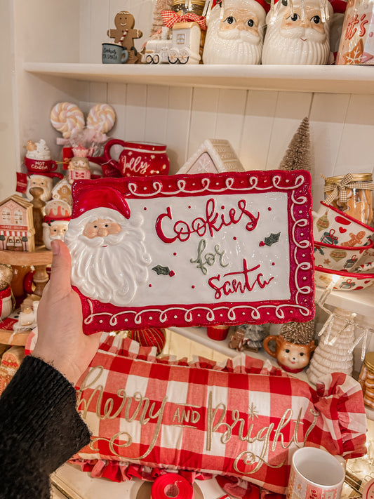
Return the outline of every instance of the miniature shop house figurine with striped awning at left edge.
<path id="1" fill-rule="evenodd" d="M 32 203 L 18 194 L 0 202 L 0 248 L 9 251 L 34 251 Z"/>

